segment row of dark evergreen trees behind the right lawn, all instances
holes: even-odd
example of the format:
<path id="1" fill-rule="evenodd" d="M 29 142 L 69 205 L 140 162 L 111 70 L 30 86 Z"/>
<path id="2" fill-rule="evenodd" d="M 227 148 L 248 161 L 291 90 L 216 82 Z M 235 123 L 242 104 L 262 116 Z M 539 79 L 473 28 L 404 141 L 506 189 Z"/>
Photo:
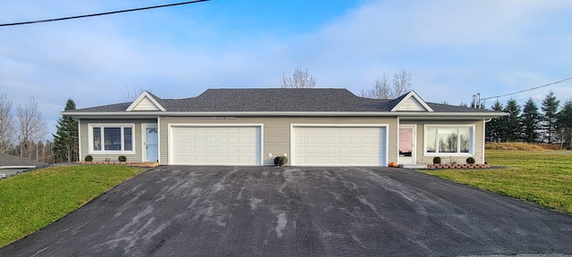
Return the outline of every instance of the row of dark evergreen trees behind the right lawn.
<path id="1" fill-rule="evenodd" d="M 511 98 L 506 104 L 498 100 L 492 111 L 508 112 L 508 116 L 494 118 L 486 123 L 487 142 L 526 142 L 559 144 L 572 147 L 572 100 L 560 105 L 550 91 L 540 109 L 532 98 L 521 106 Z"/>

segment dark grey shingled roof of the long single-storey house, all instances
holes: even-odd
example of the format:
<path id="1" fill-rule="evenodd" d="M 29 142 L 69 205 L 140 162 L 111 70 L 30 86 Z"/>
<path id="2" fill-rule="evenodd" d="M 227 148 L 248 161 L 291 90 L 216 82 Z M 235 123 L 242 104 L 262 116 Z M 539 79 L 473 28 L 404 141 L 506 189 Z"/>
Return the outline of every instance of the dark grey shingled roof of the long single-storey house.
<path id="1" fill-rule="evenodd" d="M 197 97 L 183 99 L 152 97 L 166 112 L 391 112 L 404 95 L 393 100 L 380 100 L 359 97 L 343 88 L 226 88 L 208 89 Z M 110 104 L 68 112 L 125 112 L 130 104 Z M 433 112 L 492 112 L 427 104 Z"/>

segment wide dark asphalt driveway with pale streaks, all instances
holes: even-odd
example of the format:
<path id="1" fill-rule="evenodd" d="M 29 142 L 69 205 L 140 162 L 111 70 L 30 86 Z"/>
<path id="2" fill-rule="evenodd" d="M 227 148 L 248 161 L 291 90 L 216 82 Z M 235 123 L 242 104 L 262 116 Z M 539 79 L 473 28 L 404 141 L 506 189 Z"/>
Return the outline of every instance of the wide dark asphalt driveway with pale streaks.
<path id="1" fill-rule="evenodd" d="M 147 170 L 0 256 L 572 253 L 572 216 L 413 170 Z"/>

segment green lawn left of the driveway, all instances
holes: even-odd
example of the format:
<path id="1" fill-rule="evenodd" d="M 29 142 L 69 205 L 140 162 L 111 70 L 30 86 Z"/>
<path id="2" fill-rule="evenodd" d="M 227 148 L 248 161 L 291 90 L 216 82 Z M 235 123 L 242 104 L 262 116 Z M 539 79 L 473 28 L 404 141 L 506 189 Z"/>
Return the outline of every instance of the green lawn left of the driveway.
<path id="1" fill-rule="evenodd" d="M 49 167 L 0 180 L 0 247 L 44 228 L 144 169 Z"/>

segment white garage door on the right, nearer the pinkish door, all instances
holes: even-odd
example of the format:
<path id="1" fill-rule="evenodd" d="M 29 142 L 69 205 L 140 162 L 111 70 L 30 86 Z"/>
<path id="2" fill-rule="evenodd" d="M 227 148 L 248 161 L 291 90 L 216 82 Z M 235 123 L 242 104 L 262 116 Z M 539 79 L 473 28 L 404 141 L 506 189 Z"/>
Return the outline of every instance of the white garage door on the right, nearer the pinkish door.
<path id="1" fill-rule="evenodd" d="M 293 127 L 292 165 L 386 166 L 385 127 Z"/>

